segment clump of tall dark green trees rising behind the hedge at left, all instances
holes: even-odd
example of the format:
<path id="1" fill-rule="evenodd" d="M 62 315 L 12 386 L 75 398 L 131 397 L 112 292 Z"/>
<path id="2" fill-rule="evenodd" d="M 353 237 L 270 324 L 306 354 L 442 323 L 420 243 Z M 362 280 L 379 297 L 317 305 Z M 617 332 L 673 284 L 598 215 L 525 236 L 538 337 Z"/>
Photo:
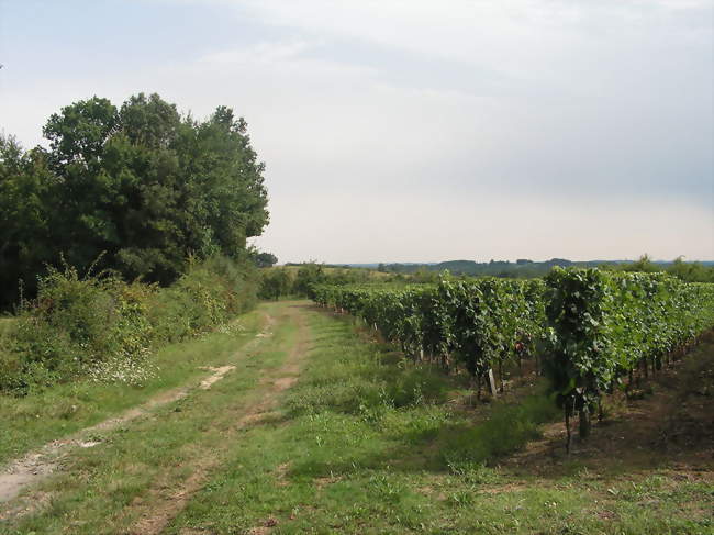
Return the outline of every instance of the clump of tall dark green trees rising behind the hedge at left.
<path id="1" fill-rule="evenodd" d="M 48 149 L 0 136 L 0 306 L 16 302 L 20 280 L 31 296 L 60 256 L 168 285 L 189 257 L 247 256 L 268 223 L 264 164 L 228 108 L 200 121 L 158 94 L 120 108 L 93 97 L 43 133 Z"/>

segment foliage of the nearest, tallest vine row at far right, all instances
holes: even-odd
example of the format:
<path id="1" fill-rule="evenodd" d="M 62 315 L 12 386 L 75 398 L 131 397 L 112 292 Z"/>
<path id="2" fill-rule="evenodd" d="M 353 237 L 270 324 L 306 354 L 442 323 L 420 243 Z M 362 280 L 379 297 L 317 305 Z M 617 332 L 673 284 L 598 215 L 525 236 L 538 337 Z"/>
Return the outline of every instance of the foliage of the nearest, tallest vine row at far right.
<path id="1" fill-rule="evenodd" d="M 714 326 L 714 286 L 665 274 L 557 268 L 546 287 L 546 368 L 566 419 L 592 411 L 639 363 L 658 368 Z"/>

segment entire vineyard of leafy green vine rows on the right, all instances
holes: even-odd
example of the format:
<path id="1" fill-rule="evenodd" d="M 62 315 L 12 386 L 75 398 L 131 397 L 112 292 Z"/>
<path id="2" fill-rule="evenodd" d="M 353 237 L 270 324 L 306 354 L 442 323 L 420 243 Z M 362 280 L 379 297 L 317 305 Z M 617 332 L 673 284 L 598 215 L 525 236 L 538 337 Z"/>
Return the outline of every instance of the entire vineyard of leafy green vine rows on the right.
<path id="1" fill-rule="evenodd" d="M 406 287 L 319 286 L 314 300 L 348 312 L 415 360 L 465 368 L 480 395 L 505 366 L 533 358 L 581 437 L 603 393 L 628 389 L 683 356 L 714 326 L 714 285 L 663 274 L 554 269 L 543 280 L 442 278 Z M 628 378 L 628 380 L 625 380 Z"/>

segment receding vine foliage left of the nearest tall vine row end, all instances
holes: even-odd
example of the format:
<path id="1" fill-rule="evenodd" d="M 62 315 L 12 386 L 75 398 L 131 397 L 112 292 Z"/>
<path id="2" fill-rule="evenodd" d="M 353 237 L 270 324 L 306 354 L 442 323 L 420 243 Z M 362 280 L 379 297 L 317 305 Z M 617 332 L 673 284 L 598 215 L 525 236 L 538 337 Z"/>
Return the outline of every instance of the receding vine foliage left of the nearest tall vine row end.
<path id="1" fill-rule="evenodd" d="M 346 310 L 414 358 L 450 356 L 478 378 L 515 359 L 543 330 L 537 280 L 455 280 L 403 287 L 320 286 L 315 301 Z M 518 353 L 520 350 L 520 353 Z"/>

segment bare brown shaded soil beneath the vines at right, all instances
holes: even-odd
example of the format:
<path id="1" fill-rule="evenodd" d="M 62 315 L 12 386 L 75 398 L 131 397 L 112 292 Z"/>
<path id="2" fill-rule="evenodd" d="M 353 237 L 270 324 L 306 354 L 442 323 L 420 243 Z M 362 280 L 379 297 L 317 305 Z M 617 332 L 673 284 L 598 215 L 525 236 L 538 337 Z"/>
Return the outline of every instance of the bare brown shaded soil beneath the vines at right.
<path id="1" fill-rule="evenodd" d="M 603 476 L 658 471 L 714 481 L 714 335 L 692 355 L 639 379 L 638 399 L 622 392 L 605 399 L 605 417 L 593 419 L 587 441 L 573 436 L 566 454 L 565 425 L 545 426 L 543 437 L 503 460 L 517 475 L 555 478 L 568 465 Z M 571 426 L 577 428 L 577 422 Z M 689 477 L 688 476 L 688 477 Z"/>

